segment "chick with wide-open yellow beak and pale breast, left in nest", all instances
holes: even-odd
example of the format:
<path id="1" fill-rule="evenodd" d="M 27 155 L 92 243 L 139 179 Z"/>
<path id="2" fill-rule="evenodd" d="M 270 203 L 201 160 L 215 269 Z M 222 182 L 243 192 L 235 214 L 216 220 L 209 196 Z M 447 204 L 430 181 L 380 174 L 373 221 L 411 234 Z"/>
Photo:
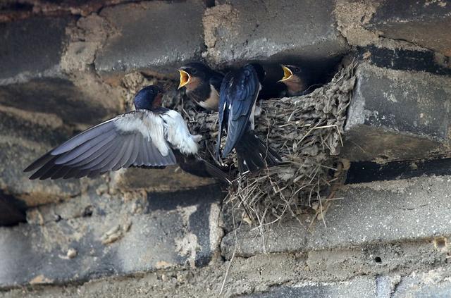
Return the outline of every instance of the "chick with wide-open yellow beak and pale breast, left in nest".
<path id="1" fill-rule="evenodd" d="M 224 75 L 204 63 L 187 63 L 178 70 L 180 85 L 186 88 L 187 97 L 207 110 L 218 111 L 219 89 Z"/>

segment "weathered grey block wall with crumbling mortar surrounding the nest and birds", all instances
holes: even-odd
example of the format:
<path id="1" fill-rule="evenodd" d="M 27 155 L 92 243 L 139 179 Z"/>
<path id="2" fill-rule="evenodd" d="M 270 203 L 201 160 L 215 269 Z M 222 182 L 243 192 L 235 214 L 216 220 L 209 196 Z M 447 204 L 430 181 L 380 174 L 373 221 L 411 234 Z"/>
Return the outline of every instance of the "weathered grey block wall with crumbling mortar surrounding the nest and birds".
<path id="1" fill-rule="evenodd" d="M 0 22 L 0 297 L 451 295 L 449 2 L 24 0 Z M 177 168 L 22 172 L 187 61 L 327 82 L 343 57 L 350 169 L 324 222 L 234 227 L 214 180 Z"/>

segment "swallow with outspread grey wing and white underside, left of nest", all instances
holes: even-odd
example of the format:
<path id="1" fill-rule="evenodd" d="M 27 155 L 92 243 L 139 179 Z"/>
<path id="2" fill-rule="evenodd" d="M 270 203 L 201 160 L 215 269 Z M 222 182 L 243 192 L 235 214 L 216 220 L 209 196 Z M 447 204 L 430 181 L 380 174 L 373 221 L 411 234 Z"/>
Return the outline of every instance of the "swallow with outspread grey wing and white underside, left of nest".
<path id="1" fill-rule="evenodd" d="M 161 97 L 159 87 L 144 87 L 135 96 L 135 111 L 81 132 L 44 154 L 25 172 L 35 171 L 31 180 L 94 178 L 110 170 L 164 167 L 195 156 L 202 137 L 191 135 L 180 113 L 161 107 Z M 206 170 L 214 167 L 204 166 Z"/>

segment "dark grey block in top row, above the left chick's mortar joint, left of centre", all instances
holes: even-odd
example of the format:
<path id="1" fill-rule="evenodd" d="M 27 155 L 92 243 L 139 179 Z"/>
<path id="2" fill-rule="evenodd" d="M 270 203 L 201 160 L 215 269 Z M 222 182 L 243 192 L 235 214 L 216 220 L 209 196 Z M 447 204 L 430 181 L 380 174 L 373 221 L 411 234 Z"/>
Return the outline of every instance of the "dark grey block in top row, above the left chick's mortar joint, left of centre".
<path id="1" fill-rule="evenodd" d="M 97 55 L 97 71 L 114 77 L 141 70 L 175 78 L 180 65 L 200 58 L 203 12 L 199 0 L 150 1 L 103 9 L 100 15 L 116 34 Z"/>

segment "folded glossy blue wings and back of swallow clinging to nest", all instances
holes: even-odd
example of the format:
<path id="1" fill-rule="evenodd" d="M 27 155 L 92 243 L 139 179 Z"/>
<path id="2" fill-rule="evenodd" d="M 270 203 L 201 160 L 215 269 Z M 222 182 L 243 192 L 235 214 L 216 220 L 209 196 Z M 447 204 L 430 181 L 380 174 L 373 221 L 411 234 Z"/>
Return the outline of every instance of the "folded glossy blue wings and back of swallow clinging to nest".
<path id="1" fill-rule="evenodd" d="M 228 111 L 227 139 L 223 157 L 232 151 L 249 125 L 249 117 L 260 91 L 259 77 L 250 65 L 226 76 L 221 85 L 221 108 Z M 221 106 L 225 104 L 225 106 Z M 221 116 L 221 115 L 220 115 Z M 219 118 L 221 123 L 221 118 Z M 221 128 L 220 128 L 221 129 Z"/>

